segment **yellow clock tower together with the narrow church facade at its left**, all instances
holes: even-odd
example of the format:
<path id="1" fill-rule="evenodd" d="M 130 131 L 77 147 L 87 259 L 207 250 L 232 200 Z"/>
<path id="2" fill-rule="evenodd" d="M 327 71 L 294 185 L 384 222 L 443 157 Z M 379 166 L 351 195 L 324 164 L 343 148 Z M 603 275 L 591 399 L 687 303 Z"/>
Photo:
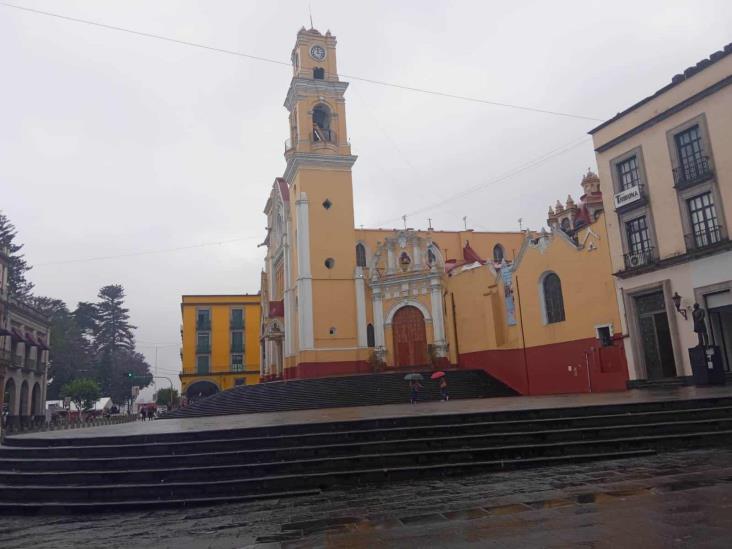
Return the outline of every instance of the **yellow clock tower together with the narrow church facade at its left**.
<path id="1" fill-rule="evenodd" d="M 263 354 L 270 363 L 264 368 L 276 377 L 312 377 L 351 369 L 346 365 L 367 354 L 359 352 L 366 343 L 365 333 L 358 333 L 363 323 L 357 322 L 365 305 L 361 278 L 360 299 L 356 295 L 351 179 L 356 157 L 348 142 L 348 84 L 338 79 L 335 37 L 301 29 L 292 70 L 285 99 L 287 166 L 265 209 L 270 234 Z"/>

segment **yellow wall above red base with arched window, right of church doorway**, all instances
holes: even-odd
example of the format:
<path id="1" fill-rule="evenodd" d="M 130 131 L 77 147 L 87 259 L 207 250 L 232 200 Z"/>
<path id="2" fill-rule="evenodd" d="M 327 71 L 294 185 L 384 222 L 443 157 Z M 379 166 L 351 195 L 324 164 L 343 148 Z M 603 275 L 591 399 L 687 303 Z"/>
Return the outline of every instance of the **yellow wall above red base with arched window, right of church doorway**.
<path id="1" fill-rule="evenodd" d="M 595 326 L 603 324 L 612 324 L 616 334 L 621 332 L 604 216 L 579 232 L 579 242 L 584 242 L 579 249 L 559 234 L 548 238 L 543 251 L 525 244 L 517 259 L 513 274 L 515 326 L 507 325 L 503 284 L 488 266 L 449 278 L 445 324 L 451 351 L 455 349 L 452 298 L 461 354 L 521 347 L 522 314 L 527 347 L 593 338 Z M 542 318 L 539 291 L 539 281 L 548 271 L 561 280 L 565 312 L 564 321 L 552 324 Z M 455 360 L 452 353 L 451 360 Z"/>

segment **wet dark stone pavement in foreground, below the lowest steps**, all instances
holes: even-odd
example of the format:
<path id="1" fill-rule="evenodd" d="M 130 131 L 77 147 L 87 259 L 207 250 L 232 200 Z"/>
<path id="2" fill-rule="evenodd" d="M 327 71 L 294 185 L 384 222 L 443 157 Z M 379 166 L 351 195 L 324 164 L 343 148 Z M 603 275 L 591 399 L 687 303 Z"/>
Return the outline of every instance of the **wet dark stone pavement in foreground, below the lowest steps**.
<path id="1" fill-rule="evenodd" d="M 732 448 L 216 507 L 4 517 L 0 546 L 727 549 Z"/>

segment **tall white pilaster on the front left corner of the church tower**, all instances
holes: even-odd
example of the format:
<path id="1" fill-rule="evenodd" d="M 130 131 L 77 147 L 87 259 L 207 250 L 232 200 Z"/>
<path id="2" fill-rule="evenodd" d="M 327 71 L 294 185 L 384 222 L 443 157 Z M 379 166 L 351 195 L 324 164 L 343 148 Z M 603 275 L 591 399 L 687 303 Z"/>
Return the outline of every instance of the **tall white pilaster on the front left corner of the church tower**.
<path id="1" fill-rule="evenodd" d="M 310 274 L 310 216 L 308 197 L 300 193 L 297 205 L 297 321 L 300 350 L 312 349 L 313 342 L 313 277 Z"/>

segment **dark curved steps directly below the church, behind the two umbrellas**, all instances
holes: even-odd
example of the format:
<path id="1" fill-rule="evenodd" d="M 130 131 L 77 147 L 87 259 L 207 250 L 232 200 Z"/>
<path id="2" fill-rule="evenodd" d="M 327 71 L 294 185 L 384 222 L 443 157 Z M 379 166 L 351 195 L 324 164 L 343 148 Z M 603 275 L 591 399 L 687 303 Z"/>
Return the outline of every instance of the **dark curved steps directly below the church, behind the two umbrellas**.
<path id="1" fill-rule="evenodd" d="M 432 371 L 415 370 L 424 377 L 420 398 L 439 400 Z M 408 372 L 359 374 L 316 379 L 295 379 L 234 387 L 174 410 L 164 418 L 218 416 L 257 412 L 285 412 L 344 406 L 372 406 L 409 402 Z M 450 399 L 487 398 L 516 395 L 483 370 L 448 370 Z"/>

